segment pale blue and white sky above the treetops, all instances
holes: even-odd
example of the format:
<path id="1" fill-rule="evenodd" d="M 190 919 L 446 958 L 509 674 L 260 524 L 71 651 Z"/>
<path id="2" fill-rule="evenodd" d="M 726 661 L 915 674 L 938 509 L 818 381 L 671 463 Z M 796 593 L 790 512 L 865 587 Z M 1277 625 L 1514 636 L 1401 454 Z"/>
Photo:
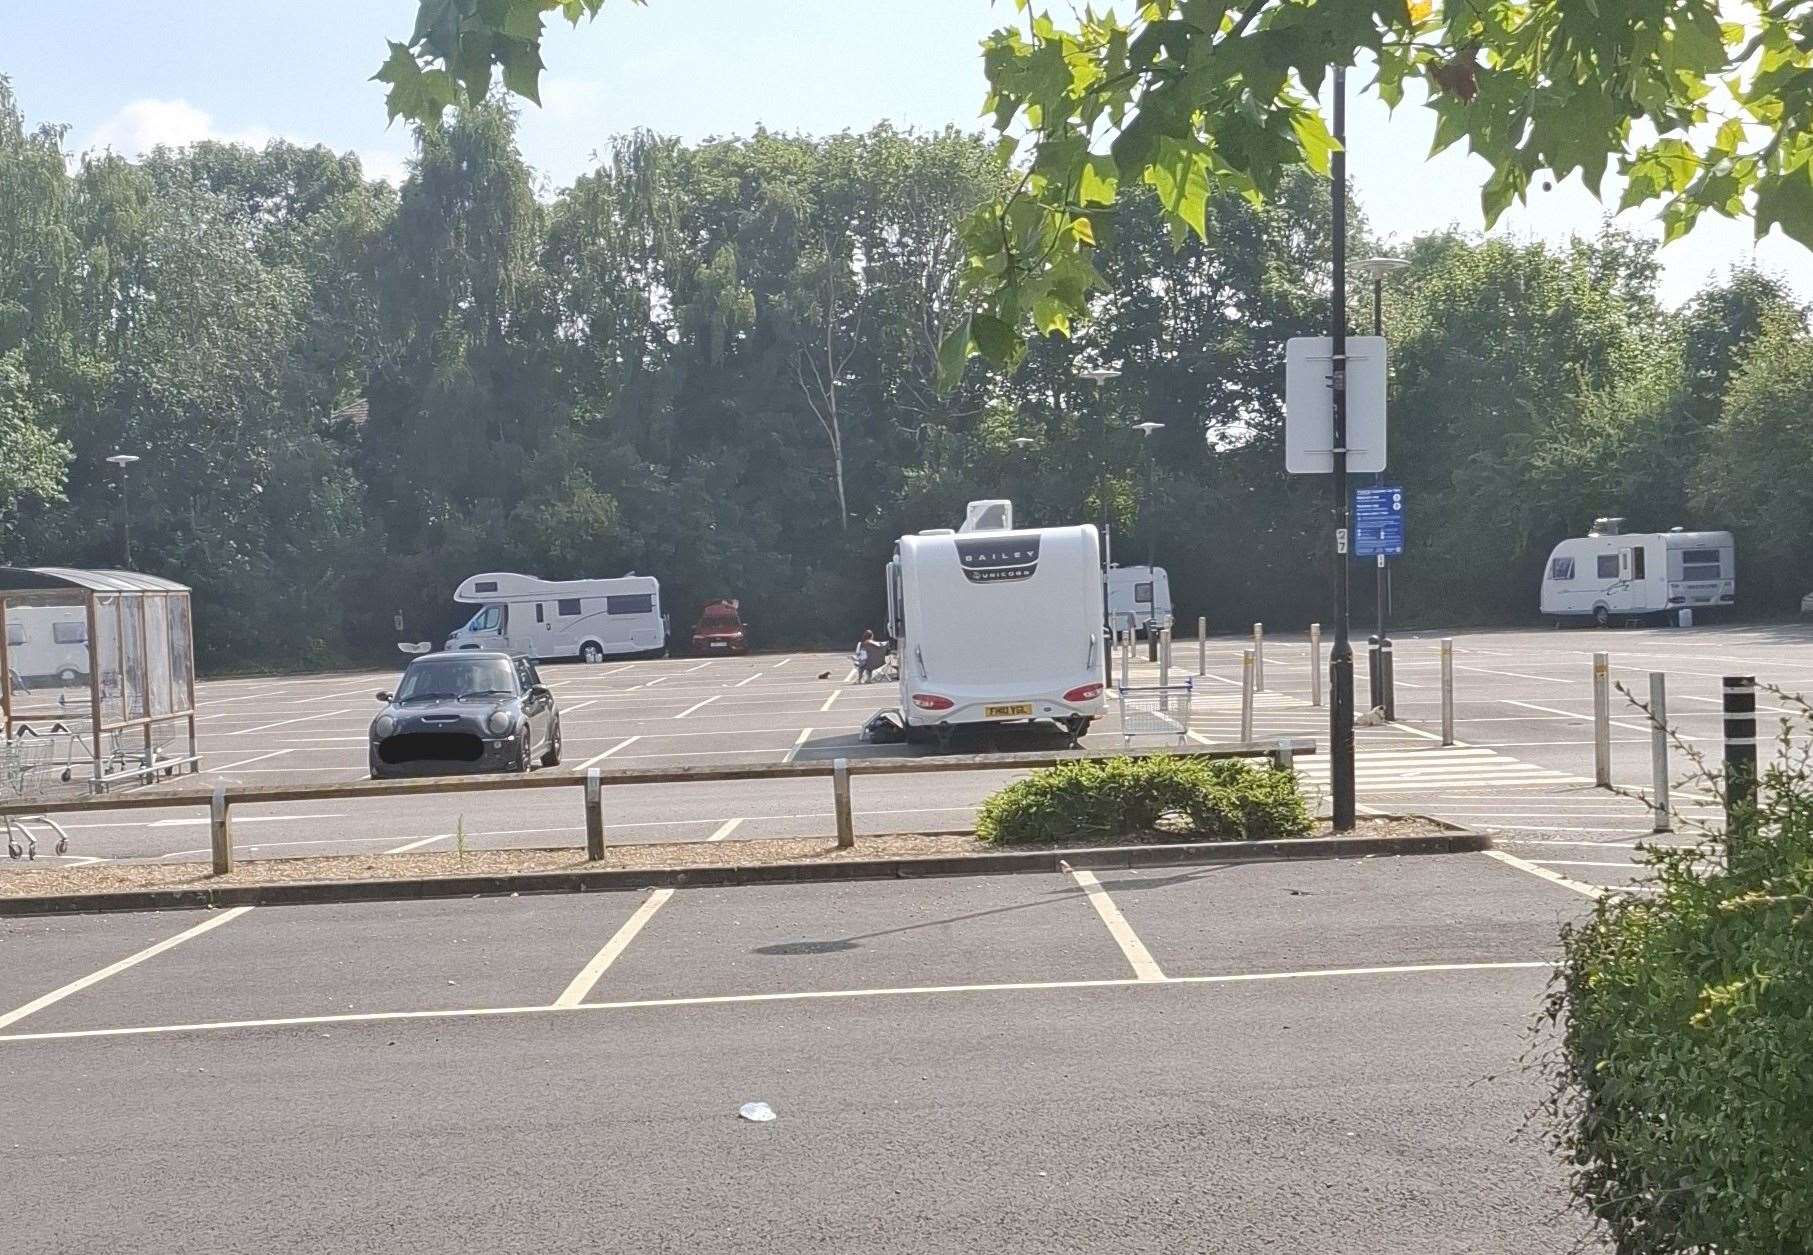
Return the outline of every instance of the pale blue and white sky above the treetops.
<path id="1" fill-rule="evenodd" d="M 977 42 L 1013 16 L 1012 0 L 607 0 L 577 31 L 549 24 L 542 107 L 522 111 L 522 151 L 553 192 L 635 127 L 684 140 L 883 120 L 981 129 Z M 383 87 L 368 80 L 384 40 L 406 38 L 413 18 L 415 0 L 4 0 L 0 74 L 31 123 L 67 123 L 73 151 L 136 156 L 156 143 L 283 136 L 355 151 L 370 174 L 395 181 L 410 138 L 386 127 Z M 1387 241 L 1481 227 L 1485 165 L 1458 149 L 1425 160 L 1432 134 L 1427 111 L 1391 114 L 1354 91 L 1349 172 Z M 1597 232 L 1606 212 L 1574 180 L 1532 192 L 1492 234 L 1566 239 Z M 1643 210 L 1619 225 L 1659 236 Z M 1813 254 L 1779 234 L 1759 245 L 1748 221 L 1706 216 L 1661 261 L 1670 305 L 1748 261 L 1813 299 Z"/>

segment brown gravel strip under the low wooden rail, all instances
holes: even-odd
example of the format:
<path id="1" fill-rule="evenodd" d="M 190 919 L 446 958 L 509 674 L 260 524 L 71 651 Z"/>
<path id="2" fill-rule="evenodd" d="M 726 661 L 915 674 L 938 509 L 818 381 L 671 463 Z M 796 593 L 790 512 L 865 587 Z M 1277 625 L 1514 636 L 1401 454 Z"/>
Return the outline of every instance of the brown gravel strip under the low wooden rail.
<path id="1" fill-rule="evenodd" d="M 1412 836 L 1447 831 L 1427 820 L 1362 820 L 1356 836 Z M 1331 836 L 1327 829 L 1314 836 Z M 1178 842 L 1173 832 L 1157 832 L 1151 842 Z M 1113 842 L 1048 842 L 1023 845 L 983 845 L 972 832 L 892 832 L 859 836 L 850 849 L 838 849 L 829 836 L 751 838 L 731 842 L 660 842 L 647 845 L 609 845 L 604 861 L 587 863 L 586 851 L 502 849 L 437 851 L 421 854 L 328 854 L 314 858 L 243 860 L 227 876 L 214 876 L 207 863 L 87 863 L 82 867 L 7 865 L 0 867 L 0 898 L 44 894 L 96 894 L 131 889 L 216 889 L 225 885 L 268 885 L 292 880 L 413 880 L 419 876 L 491 876 L 500 872 L 553 872 L 577 867 L 674 869 L 674 867 L 747 867 L 754 863 L 830 863 L 858 858 L 948 858 L 952 854 L 999 854 L 1003 851 L 1064 849 L 1111 845 Z M 1128 842 L 1139 843 L 1139 842 Z"/>

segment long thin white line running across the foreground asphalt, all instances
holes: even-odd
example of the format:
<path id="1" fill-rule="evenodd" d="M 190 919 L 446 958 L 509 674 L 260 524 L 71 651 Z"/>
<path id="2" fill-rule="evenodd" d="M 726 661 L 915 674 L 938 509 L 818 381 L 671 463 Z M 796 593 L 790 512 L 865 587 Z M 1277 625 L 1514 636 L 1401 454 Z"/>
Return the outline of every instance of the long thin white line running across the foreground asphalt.
<path id="1" fill-rule="evenodd" d="M 247 907 L 248 910 L 250 907 Z M 789 990 L 778 994 L 698 994 L 687 997 L 644 997 L 615 1003 L 575 1003 L 571 1007 L 462 1007 L 455 1010 L 379 1010 L 330 1016 L 279 1016 L 270 1019 L 210 1019 L 185 1025 L 138 1025 L 131 1028 L 63 1028 L 54 1032 L 0 1034 L 5 1041 L 71 1041 L 82 1037 L 150 1037 L 178 1032 L 232 1032 L 243 1028 L 299 1028 L 314 1025 L 370 1025 L 404 1019 L 482 1019 L 488 1016 L 558 1016 L 609 1010 L 662 1010 L 685 1007 L 736 1007 L 752 1003 L 818 1003 L 865 997 L 925 997 L 939 994 L 1019 994 L 1073 988 L 1177 988 L 1184 985 L 1260 985 L 1271 981 L 1314 981 L 1367 976 L 1447 976 L 1472 972 L 1519 972 L 1554 968 L 1548 959 L 1510 959 L 1492 963 L 1401 963 L 1394 967 L 1323 967 L 1291 972 L 1235 972 L 1217 976 L 1168 976 L 1162 981 L 1139 978 L 1077 981 L 999 981 L 992 985 L 897 985 L 885 988 Z"/>

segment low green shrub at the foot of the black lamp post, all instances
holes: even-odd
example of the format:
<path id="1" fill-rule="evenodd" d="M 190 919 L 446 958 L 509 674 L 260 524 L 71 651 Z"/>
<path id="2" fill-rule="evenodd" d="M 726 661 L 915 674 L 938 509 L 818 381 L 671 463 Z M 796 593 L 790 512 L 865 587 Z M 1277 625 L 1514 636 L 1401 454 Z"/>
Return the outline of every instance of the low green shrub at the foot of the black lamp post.
<path id="1" fill-rule="evenodd" d="M 1129 836 L 1262 842 L 1311 829 L 1294 773 L 1188 756 L 1050 767 L 988 798 L 975 820 L 977 836 L 995 845 Z"/>

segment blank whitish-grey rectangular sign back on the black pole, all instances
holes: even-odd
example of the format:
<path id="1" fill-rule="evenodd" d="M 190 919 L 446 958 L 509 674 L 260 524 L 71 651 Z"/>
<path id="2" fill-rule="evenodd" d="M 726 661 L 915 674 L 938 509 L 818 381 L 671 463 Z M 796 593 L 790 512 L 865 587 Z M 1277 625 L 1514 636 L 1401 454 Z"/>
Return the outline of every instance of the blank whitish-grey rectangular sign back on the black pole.
<path id="1" fill-rule="evenodd" d="M 1334 473 L 1334 341 L 1298 336 L 1284 346 L 1284 470 Z M 1385 470 L 1385 341 L 1347 337 L 1347 470 Z"/>

